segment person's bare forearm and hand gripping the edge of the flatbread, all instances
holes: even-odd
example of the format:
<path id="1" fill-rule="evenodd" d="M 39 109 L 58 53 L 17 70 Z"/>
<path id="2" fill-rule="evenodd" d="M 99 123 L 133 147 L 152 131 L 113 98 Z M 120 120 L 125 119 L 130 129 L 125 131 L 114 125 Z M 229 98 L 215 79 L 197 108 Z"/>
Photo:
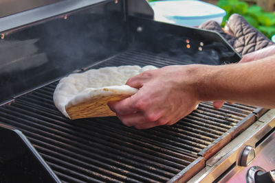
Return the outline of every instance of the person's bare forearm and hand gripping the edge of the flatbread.
<path id="1" fill-rule="evenodd" d="M 275 56 L 223 66 L 166 66 L 131 77 L 140 90 L 109 103 L 120 120 L 138 129 L 172 125 L 200 101 L 232 101 L 275 108 Z"/>

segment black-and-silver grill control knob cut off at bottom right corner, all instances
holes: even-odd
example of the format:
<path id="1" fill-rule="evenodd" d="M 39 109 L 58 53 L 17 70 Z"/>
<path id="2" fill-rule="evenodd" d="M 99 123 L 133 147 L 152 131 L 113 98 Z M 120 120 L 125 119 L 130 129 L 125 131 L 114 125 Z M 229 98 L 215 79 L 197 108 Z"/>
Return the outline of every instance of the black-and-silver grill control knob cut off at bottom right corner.
<path id="1" fill-rule="evenodd" d="M 265 171 L 261 167 L 251 167 L 246 173 L 246 182 L 248 183 L 274 183 L 275 182 L 275 170 Z"/>

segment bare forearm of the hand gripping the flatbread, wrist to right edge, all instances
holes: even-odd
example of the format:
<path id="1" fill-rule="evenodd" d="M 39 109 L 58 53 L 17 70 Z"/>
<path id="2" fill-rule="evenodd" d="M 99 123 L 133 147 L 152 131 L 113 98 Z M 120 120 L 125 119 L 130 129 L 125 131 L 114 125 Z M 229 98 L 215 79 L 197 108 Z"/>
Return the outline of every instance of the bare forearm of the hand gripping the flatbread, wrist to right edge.
<path id="1" fill-rule="evenodd" d="M 209 66 L 199 82 L 199 100 L 225 100 L 275 107 L 275 56 L 226 66 Z"/>

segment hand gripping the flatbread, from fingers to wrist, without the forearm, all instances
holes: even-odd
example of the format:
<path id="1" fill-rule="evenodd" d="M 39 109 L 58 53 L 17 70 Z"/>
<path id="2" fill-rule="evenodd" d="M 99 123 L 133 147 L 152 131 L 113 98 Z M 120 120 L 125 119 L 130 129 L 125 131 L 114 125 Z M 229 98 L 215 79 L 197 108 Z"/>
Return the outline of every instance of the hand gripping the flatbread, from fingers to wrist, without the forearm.
<path id="1" fill-rule="evenodd" d="M 173 125 L 199 103 L 194 68 L 193 65 L 166 66 L 131 77 L 126 84 L 139 88 L 138 92 L 109 103 L 109 107 L 124 125 L 137 129 Z"/>

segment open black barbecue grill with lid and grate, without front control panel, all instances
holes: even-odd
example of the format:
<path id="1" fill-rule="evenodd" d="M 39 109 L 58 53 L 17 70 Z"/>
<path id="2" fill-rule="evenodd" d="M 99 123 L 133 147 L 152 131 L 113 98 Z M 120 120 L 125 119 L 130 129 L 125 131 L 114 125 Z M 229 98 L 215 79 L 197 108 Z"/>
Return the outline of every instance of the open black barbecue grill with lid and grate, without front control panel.
<path id="1" fill-rule="evenodd" d="M 116 117 L 71 121 L 52 101 L 69 73 L 217 65 L 240 56 L 217 33 L 153 21 L 146 1 L 56 0 L 33 8 L 0 18 L 3 182 L 186 182 L 267 111 L 202 102 L 178 123 L 149 130 Z"/>

